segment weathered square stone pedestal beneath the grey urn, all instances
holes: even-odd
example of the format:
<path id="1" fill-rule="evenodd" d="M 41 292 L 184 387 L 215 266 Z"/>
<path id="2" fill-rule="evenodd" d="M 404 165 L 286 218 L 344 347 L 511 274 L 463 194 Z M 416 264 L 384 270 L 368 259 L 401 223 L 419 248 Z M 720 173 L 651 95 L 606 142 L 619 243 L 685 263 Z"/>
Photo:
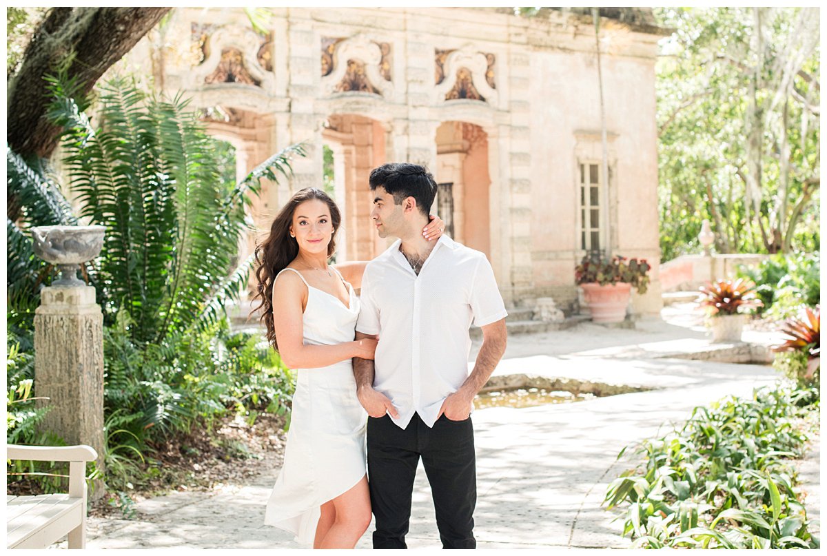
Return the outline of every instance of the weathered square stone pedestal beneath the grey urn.
<path id="1" fill-rule="evenodd" d="M 69 444 L 88 444 L 103 470 L 103 313 L 95 289 L 50 286 L 35 311 L 35 388 L 50 407 L 43 429 Z M 93 499 L 103 496 L 96 482 Z"/>

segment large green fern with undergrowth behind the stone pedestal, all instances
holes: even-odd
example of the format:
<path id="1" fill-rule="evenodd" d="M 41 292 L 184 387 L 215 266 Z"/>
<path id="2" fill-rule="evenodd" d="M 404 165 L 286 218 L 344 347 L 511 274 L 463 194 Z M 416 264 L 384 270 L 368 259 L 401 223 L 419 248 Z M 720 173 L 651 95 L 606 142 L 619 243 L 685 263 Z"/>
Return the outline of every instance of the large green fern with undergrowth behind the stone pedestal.
<path id="1" fill-rule="evenodd" d="M 226 183 L 213 139 L 180 96 L 149 96 L 116 77 L 99 88 L 93 127 L 92 99 L 76 82 L 65 74 L 48 80 L 79 217 L 107 227 L 101 255 L 82 271 L 103 309 L 105 459 L 109 479 L 122 485 L 153 442 L 227 410 L 289 407 L 288 371 L 251 335 L 230 333 L 223 307 L 237 300 L 254 261 L 233 260 L 250 196 L 261 178 L 289 175 L 289 158 L 305 151 L 289 146 Z M 27 230 L 78 217 L 45 161 L 7 151 L 7 174 L 7 323 L 19 360 L 7 377 L 17 388 L 33 378 L 33 314 L 52 274 L 31 252 Z M 41 443 L 37 415 L 16 415 L 24 416 L 16 438 Z"/>

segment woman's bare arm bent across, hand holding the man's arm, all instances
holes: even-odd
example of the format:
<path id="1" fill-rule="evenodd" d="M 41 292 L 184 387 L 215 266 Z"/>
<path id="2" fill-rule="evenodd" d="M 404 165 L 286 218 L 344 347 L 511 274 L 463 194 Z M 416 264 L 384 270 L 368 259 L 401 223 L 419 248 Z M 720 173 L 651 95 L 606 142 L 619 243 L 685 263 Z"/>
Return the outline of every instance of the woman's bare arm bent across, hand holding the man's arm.
<path id="1" fill-rule="evenodd" d="M 332 346 L 305 346 L 303 309 L 308 289 L 294 272 L 285 272 L 273 285 L 273 326 L 279 355 L 291 369 L 327 367 L 352 357 L 373 359 L 375 340 L 364 339 Z"/>

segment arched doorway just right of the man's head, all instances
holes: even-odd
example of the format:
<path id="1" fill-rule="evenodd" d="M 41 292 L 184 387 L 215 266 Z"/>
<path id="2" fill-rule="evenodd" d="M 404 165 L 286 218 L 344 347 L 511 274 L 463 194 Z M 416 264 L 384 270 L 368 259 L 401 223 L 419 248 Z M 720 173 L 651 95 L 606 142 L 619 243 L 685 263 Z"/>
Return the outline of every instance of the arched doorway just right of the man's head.
<path id="1" fill-rule="evenodd" d="M 488 136 L 469 122 L 437 127 L 434 211 L 457 242 L 491 256 Z"/>

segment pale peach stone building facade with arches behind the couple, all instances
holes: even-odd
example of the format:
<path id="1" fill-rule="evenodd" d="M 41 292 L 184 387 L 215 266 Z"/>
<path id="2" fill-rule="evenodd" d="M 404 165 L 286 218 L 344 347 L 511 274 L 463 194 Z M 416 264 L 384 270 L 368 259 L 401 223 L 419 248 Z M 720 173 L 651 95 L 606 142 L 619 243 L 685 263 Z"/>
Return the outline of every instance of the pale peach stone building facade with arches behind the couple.
<path id="1" fill-rule="evenodd" d="M 432 212 L 489 257 L 506 304 L 576 301 L 590 249 L 646 258 L 657 274 L 654 62 L 662 32 L 601 18 L 609 180 L 603 175 L 595 28 L 565 11 L 499 8 L 271 8 L 265 32 L 241 8 L 177 8 L 127 56 L 169 93 L 210 108 L 209 130 L 245 175 L 307 141 L 294 176 L 265 184 L 251 218 L 266 232 L 297 189 L 323 183 L 333 151 L 343 209 L 338 260 L 387 246 L 370 225 L 368 175 L 389 161 L 427 165 Z M 174 40 L 173 40 L 174 37 Z M 245 247 L 251 249 L 254 237 Z"/>

